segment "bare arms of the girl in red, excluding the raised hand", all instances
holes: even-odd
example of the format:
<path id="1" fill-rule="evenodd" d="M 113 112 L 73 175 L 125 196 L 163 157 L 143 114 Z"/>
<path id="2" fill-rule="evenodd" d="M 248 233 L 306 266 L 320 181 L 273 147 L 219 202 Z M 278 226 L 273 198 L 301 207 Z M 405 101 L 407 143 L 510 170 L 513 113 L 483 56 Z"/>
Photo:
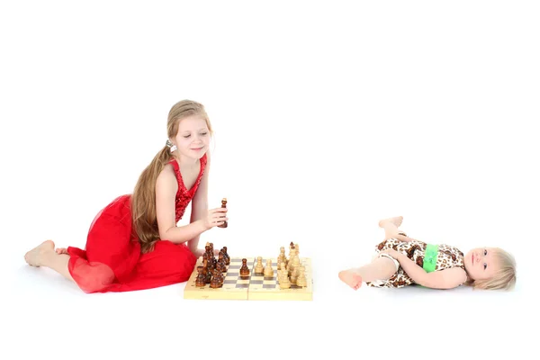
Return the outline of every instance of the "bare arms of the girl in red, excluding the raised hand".
<path id="1" fill-rule="evenodd" d="M 206 174 L 205 170 L 201 183 L 204 181 L 203 179 Z M 196 220 L 189 225 L 176 227 L 175 198 L 177 191 L 178 183 L 173 166 L 166 165 L 161 174 L 157 176 L 156 182 L 156 215 L 159 238 L 169 240 L 175 244 L 182 244 L 193 238 L 197 238 L 198 242 L 198 238 L 202 232 L 210 228 L 207 227 L 207 224 L 202 219 Z M 199 190 L 197 190 L 198 192 Z"/>

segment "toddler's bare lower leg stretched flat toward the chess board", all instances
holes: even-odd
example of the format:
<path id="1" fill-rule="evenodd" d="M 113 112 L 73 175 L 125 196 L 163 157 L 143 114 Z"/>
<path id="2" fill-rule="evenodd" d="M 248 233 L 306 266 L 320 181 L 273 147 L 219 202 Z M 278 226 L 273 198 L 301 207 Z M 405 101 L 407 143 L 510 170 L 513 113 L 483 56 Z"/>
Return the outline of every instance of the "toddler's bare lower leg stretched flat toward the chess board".
<path id="1" fill-rule="evenodd" d="M 374 282 L 375 280 L 388 280 L 396 272 L 396 265 L 388 257 L 377 257 L 370 264 L 339 272 L 339 279 L 355 290 L 358 290 L 362 282 Z"/>

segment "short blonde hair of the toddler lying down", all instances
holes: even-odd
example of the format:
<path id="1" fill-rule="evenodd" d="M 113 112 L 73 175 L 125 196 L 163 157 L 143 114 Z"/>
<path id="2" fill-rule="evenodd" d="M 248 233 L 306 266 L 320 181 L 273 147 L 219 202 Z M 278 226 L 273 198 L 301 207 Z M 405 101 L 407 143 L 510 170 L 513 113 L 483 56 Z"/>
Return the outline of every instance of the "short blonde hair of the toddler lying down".
<path id="1" fill-rule="evenodd" d="M 516 285 L 516 260 L 500 247 L 494 247 L 491 251 L 499 261 L 499 271 L 491 279 L 469 280 L 467 284 L 475 289 L 512 290 Z"/>

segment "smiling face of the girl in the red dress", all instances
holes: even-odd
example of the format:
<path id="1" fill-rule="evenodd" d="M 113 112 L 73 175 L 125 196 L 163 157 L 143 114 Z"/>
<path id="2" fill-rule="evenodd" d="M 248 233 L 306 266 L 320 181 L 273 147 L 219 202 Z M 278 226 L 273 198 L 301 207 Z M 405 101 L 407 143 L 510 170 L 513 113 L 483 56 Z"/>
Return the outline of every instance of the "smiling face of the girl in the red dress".
<path id="1" fill-rule="evenodd" d="M 179 157 L 198 160 L 210 145 L 210 130 L 202 117 L 193 115 L 180 120 L 173 142 Z"/>

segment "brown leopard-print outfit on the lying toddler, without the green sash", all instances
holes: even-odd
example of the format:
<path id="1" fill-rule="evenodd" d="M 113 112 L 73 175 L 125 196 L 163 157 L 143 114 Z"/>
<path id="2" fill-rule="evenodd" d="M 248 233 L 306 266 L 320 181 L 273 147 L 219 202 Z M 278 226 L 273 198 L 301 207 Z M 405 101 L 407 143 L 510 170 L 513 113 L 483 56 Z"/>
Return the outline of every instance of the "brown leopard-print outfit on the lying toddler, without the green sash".
<path id="1" fill-rule="evenodd" d="M 389 238 L 384 240 L 382 243 L 375 247 L 376 255 L 378 255 L 386 249 L 393 248 L 394 250 L 401 252 L 401 254 L 406 255 L 412 261 L 414 261 L 418 266 L 424 266 L 424 256 L 426 253 L 426 243 L 412 240 L 410 242 L 404 242 L 396 238 Z M 440 244 L 438 247 L 437 255 L 437 266 L 435 271 L 445 270 L 452 267 L 461 267 L 465 270 L 464 266 L 464 253 L 460 251 L 457 247 L 452 247 L 446 244 Z M 414 281 L 407 275 L 401 266 L 399 266 L 398 271 L 392 275 L 388 280 L 379 280 L 373 283 L 366 283 L 368 286 L 372 287 L 392 287 L 399 288 L 403 286 L 408 286 L 410 284 L 415 284 Z"/>

